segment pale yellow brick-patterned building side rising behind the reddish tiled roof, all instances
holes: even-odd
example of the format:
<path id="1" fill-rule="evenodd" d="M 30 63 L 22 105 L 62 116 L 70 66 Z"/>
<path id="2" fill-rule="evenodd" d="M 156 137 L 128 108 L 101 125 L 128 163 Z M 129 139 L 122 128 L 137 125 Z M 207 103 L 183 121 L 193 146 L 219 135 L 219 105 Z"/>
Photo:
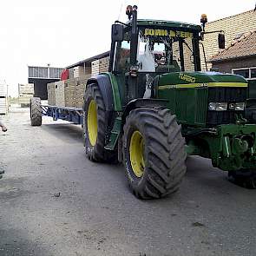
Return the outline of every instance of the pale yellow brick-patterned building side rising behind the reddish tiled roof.
<path id="1" fill-rule="evenodd" d="M 217 21 L 213 21 L 206 24 L 206 31 L 213 30 L 224 30 L 226 37 L 226 47 L 233 42 L 236 36 L 241 33 L 253 30 L 256 28 L 256 12 L 249 10 L 240 13 L 235 16 L 229 16 L 222 18 Z M 213 56 L 219 53 L 218 47 L 218 33 L 205 35 L 205 40 L 203 41 L 207 61 L 209 61 Z M 205 68 L 204 57 L 201 51 L 201 67 Z M 211 68 L 211 64 L 207 63 L 208 68 Z"/>

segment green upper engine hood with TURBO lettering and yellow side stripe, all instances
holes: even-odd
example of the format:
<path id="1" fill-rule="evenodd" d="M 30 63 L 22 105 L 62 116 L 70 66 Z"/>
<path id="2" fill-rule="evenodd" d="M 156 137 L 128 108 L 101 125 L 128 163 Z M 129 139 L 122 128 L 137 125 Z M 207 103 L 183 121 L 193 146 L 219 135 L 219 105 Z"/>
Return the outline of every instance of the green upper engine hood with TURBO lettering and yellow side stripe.
<path id="1" fill-rule="evenodd" d="M 247 87 L 243 76 L 219 72 L 174 72 L 160 75 L 159 89 L 195 87 Z"/>

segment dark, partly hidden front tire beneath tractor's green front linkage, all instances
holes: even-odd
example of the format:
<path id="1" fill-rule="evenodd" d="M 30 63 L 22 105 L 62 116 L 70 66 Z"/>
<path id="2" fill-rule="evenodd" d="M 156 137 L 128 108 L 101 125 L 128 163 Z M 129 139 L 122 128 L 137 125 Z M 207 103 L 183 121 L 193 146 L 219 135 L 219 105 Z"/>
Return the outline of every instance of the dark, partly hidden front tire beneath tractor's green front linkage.
<path id="1" fill-rule="evenodd" d="M 256 189 L 256 171 L 241 170 L 228 172 L 229 181 L 249 189 Z"/>

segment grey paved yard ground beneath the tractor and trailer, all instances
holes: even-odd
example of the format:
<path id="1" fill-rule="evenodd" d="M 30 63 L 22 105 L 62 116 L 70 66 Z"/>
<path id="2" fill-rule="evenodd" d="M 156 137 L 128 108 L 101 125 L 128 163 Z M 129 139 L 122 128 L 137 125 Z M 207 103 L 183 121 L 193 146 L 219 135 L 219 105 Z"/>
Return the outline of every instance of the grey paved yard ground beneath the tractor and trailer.
<path id="1" fill-rule="evenodd" d="M 82 129 L 3 117 L 0 255 L 256 255 L 256 191 L 189 157 L 178 193 L 137 200 L 121 165 L 87 160 Z"/>

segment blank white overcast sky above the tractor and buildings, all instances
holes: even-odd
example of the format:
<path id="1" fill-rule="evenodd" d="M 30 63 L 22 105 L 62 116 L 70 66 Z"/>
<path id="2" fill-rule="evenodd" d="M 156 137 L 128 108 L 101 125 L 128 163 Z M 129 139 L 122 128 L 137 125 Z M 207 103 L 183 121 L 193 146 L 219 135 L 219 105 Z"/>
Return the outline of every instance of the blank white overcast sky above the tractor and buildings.
<path id="1" fill-rule="evenodd" d="M 150 4 L 153 3 L 153 4 Z M 200 23 L 253 10 L 255 0 L 7 0 L 0 9 L 0 80 L 15 95 L 28 65 L 66 67 L 110 47 L 111 24 L 125 21 L 128 4 L 138 17 Z M 256 15 L 256 13 L 255 13 Z"/>

